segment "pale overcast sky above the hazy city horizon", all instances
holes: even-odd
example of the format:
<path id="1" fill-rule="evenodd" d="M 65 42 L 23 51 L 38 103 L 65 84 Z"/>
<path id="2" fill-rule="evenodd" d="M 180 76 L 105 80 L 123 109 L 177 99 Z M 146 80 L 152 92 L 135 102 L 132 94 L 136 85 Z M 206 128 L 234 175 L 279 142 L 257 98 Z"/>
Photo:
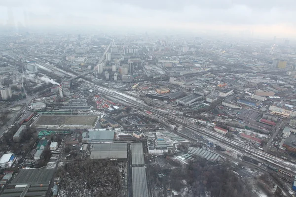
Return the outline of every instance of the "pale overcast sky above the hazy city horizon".
<path id="1" fill-rule="evenodd" d="M 296 0 L 0 0 L 0 24 L 295 38 L 295 10 Z"/>

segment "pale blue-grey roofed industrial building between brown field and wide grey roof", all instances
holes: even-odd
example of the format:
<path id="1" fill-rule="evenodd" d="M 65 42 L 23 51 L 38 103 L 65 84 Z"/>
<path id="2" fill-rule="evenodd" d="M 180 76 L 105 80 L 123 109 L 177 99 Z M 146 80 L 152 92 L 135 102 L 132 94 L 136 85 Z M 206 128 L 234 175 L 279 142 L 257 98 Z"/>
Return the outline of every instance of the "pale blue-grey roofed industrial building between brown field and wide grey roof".
<path id="1" fill-rule="evenodd" d="M 93 143 L 102 141 L 113 141 L 114 131 L 90 130 L 82 133 L 82 143 Z"/>

